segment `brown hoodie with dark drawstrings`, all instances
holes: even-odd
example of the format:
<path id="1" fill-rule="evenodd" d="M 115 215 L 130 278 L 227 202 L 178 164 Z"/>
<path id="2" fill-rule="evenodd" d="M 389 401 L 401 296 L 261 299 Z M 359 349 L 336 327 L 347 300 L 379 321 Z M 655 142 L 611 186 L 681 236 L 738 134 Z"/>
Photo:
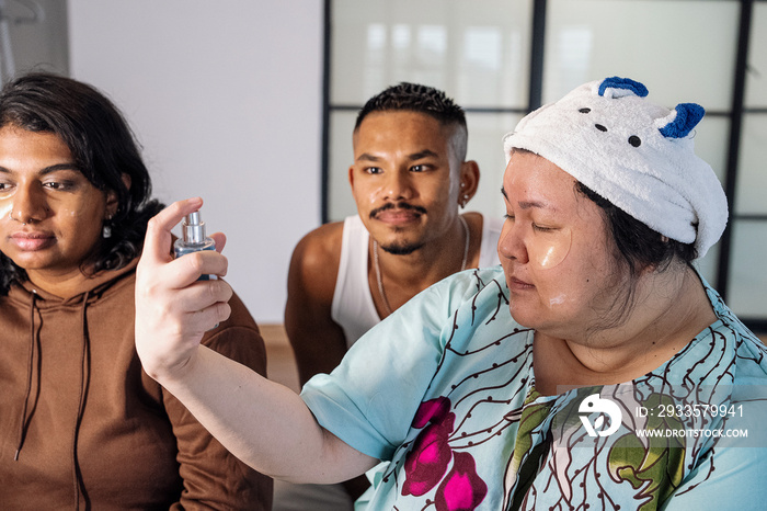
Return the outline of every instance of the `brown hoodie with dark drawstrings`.
<path id="1" fill-rule="evenodd" d="M 0 297 L 0 509 L 254 509 L 272 480 L 229 454 L 144 373 L 134 261 L 61 299 Z M 240 299 L 203 344 L 265 374 Z"/>

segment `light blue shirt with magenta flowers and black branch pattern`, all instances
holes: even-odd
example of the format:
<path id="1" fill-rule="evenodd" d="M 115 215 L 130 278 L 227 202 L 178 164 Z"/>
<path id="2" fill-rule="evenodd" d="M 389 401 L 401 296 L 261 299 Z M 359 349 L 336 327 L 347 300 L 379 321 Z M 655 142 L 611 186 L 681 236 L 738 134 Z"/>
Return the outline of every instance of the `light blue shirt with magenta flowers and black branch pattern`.
<path id="1" fill-rule="evenodd" d="M 718 320 L 663 365 L 541 396 L 502 269 L 462 272 L 301 396 L 320 424 L 389 462 L 370 510 L 760 509 L 767 351 L 703 284 Z"/>

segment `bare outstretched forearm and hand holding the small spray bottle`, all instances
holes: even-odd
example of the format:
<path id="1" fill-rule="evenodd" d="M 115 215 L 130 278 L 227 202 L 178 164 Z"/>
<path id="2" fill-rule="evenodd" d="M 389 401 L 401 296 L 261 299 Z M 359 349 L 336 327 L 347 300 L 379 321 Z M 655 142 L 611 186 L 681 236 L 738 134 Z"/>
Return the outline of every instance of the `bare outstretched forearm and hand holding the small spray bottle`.
<path id="1" fill-rule="evenodd" d="M 227 260 L 201 251 L 174 260 L 171 229 L 202 206 L 180 201 L 149 222 L 136 277 L 136 349 L 154 378 L 229 451 L 256 470 L 297 482 L 336 482 L 376 465 L 322 429 L 293 390 L 199 345 L 230 314 Z M 226 241 L 214 235 L 217 249 Z"/>

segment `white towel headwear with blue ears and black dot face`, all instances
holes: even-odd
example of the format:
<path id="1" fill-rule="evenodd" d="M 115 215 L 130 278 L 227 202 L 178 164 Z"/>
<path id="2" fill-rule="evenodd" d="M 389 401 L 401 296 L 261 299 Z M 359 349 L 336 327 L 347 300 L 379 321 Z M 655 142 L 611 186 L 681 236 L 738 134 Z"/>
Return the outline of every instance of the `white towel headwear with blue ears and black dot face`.
<path id="1" fill-rule="evenodd" d="M 627 78 L 585 83 L 519 121 L 503 139 L 506 161 L 514 148 L 535 152 L 702 258 L 728 222 L 722 185 L 689 135 L 703 109 L 668 110 L 645 95 Z"/>

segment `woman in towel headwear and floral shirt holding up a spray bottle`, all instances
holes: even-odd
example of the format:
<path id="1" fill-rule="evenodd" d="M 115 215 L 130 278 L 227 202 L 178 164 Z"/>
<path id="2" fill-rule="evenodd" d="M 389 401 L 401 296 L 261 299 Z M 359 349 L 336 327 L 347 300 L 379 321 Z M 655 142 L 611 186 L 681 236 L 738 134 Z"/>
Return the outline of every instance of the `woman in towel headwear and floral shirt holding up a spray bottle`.
<path id="1" fill-rule="evenodd" d="M 198 204 L 172 205 L 139 265 L 145 368 L 261 472 L 386 462 L 367 509 L 758 509 L 767 350 L 691 265 L 726 224 L 692 151 L 702 109 L 646 94 L 609 78 L 525 117 L 504 140 L 502 268 L 417 295 L 300 398 L 198 347 L 230 292 L 188 284 L 226 259 L 171 261 Z"/>

